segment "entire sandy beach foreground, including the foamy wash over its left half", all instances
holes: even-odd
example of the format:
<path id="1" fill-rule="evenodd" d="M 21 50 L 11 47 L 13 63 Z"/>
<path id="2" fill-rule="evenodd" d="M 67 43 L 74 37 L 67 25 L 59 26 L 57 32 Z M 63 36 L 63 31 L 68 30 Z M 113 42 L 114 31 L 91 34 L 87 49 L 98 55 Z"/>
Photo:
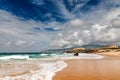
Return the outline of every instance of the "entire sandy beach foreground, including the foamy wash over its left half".
<path id="1" fill-rule="evenodd" d="M 119 52 L 100 54 L 104 57 L 81 54 L 58 61 L 1 62 L 0 80 L 120 80 Z"/>

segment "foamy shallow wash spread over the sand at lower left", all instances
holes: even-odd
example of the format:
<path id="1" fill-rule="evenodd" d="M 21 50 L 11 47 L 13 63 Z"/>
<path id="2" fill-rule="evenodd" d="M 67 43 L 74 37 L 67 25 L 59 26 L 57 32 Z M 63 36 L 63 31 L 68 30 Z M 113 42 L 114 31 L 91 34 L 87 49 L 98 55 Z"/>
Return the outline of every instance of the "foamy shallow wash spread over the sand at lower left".
<path id="1" fill-rule="evenodd" d="M 52 80 L 67 64 L 64 61 L 9 62 L 0 64 L 0 80 Z"/>

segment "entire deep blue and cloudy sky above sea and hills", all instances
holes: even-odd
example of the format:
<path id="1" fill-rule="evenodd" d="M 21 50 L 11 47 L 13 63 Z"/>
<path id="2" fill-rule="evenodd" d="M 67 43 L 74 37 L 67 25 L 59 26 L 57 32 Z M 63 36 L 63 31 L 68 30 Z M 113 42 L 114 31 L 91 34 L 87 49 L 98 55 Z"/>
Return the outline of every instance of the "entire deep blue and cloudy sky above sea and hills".
<path id="1" fill-rule="evenodd" d="M 120 45 L 120 0 L 0 0 L 0 52 Z"/>

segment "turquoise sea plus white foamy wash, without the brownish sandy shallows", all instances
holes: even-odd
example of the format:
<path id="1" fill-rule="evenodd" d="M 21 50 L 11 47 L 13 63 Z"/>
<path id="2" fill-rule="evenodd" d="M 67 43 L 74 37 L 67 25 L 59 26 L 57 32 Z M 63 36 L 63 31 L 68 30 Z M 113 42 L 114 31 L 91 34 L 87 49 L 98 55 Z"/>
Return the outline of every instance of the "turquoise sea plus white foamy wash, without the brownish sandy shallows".
<path id="1" fill-rule="evenodd" d="M 0 66 L 4 62 L 11 64 L 14 63 L 16 66 L 13 70 L 19 71 L 19 66 L 17 64 L 32 64 L 35 63 L 40 69 L 34 71 L 30 70 L 30 74 L 18 75 L 18 76 L 5 76 L 0 78 L 0 80 L 52 80 L 52 77 L 56 72 L 61 71 L 63 68 L 67 67 L 67 63 L 64 62 L 66 59 L 102 59 L 103 56 L 97 54 L 85 54 L 79 53 L 79 56 L 73 56 L 72 53 L 34 53 L 34 54 L 1 54 L 0 55 Z M 9 66 L 10 67 L 10 66 Z M 0 69 L 0 75 L 5 73 L 4 70 Z M 10 71 L 8 71 L 10 72 Z M 7 73 L 6 73 L 7 74 Z"/>

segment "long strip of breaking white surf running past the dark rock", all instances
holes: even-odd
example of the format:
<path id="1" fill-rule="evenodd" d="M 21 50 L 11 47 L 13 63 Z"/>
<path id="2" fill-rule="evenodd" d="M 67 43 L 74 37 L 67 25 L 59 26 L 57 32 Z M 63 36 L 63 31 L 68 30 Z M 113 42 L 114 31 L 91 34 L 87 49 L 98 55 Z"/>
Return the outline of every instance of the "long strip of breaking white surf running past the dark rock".
<path id="1" fill-rule="evenodd" d="M 11 59 L 26 59 L 26 60 L 31 60 L 31 59 L 43 59 L 43 60 L 48 60 L 48 59 L 101 59 L 104 56 L 98 55 L 98 54 L 86 54 L 86 53 L 79 53 L 78 56 L 73 56 L 72 53 L 62 53 L 62 54 L 20 54 L 20 55 L 4 55 L 0 56 L 0 60 L 11 60 Z"/>

